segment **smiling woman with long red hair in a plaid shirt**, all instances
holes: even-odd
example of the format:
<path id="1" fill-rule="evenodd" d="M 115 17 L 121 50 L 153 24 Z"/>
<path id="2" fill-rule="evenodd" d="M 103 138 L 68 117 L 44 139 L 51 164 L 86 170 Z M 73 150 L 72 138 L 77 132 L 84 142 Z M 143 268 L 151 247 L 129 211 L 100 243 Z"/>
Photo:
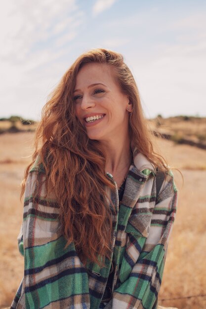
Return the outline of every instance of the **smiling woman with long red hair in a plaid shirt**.
<path id="1" fill-rule="evenodd" d="M 11 308 L 157 308 L 177 190 L 121 54 L 94 49 L 66 72 L 24 182 Z"/>

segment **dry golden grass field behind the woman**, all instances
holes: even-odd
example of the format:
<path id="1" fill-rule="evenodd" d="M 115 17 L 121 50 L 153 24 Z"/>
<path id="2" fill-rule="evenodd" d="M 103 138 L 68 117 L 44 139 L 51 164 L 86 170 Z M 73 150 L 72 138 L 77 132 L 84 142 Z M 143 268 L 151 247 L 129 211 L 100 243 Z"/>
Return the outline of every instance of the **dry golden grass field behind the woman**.
<path id="1" fill-rule="evenodd" d="M 19 193 L 33 136 L 26 132 L 0 135 L 0 308 L 11 304 L 23 276 L 24 262 L 16 240 L 23 213 Z M 206 151 L 161 139 L 157 143 L 169 165 L 180 169 L 184 177 L 182 184 L 174 170 L 179 204 L 159 304 L 205 309 L 206 296 L 190 296 L 206 294 Z"/>

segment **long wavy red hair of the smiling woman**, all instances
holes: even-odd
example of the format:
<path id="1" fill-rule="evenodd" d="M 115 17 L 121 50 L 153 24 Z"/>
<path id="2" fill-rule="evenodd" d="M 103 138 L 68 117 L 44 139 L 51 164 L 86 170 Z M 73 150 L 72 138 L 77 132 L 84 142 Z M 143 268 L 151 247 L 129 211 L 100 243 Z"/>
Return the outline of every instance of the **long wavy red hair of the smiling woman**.
<path id="1" fill-rule="evenodd" d="M 98 141 L 87 137 L 85 128 L 75 116 L 76 77 L 88 63 L 108 64 L 113 68 L 114 77 L 132 105 L 129 118 L 132 147 L 155 167 L 166 169 L 164 159 L 154 152 L 138 89 L 123 56 L 97 48 L 75 61 L 44 106 L 36 132 L 33 161 L 26 168 L 21 196 L 29 170 L 38 156 L 45 169 L 46 192 L 55 193 L 59 205 L 59 219 L 67 245 L 75 243 L 83 264 L 89 259 L 102 266 L 105 258 L 111 257 L 112 215 L 115 213 L 114 207 L 109 206 L 105 189 L 113 190 L 114 185 L 105 174 L 104 150 Z"/>

